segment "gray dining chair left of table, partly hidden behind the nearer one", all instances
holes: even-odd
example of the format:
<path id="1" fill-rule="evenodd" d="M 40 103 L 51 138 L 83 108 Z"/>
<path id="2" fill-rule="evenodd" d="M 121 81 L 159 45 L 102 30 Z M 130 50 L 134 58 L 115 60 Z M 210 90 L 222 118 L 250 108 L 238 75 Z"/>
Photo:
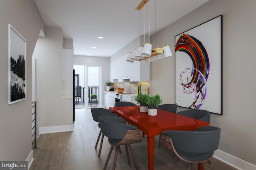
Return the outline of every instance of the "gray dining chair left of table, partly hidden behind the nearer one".
<path id="1" fill-rule="evenodd" d="M 102 115 L 114 115 L 114 116 L 117 116 L 116 114 L 112 113 L 109 109 L 98 108 L 98 107 L 91 108 L 91 112 L 92 112 L 92 118 L 96 122 L 99 122 L 99 117 L 102 116 Z M 99 123 L 98 123 L 98 127 L 100 128 L 100 124 Z M 100 149 L 99 149 L 98 156 L 100 156 L 101 149 L 102 149 L 103 138 L 104 138 L 104 135 L 102 134 L 101 128 L 100 128 L 100 133 L 98 135 L 98 139 L 97 139 L 96 145 L 94 147 L 95 149 L 98 146 L 98 142 L 100 140 L 100 135 L 102 135 L 102 137 L 101 137 L 101 141 L 100 141 Z"/>

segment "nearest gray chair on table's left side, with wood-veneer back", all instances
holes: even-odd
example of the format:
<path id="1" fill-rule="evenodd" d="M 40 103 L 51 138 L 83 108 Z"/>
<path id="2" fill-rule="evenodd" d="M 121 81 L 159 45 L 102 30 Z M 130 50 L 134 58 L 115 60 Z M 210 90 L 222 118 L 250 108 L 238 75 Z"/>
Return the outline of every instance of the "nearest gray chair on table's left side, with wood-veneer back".
<path id="1" fill-rule="evenodd" d="M 134 162 L 134 166 L 136 170 L 138 170 L 138 166 L 134 158 L 134 154 L 132 152 L 132 148 L 130 144 L 142 142 L 142 136 L 141 136 L 140 130 L 138 130 L 136 126 L 126 124 L 122 117 L 117 117 L 117 116 L 109 116 L 109 115 L 100 116 L 99 123 L 102 129 L 103 135 L 108 137 L 108 142 L 111 145 L 111 148 L 108 153 L 108 157 L 103 169 L 106 170 L 112 150 L 114 147 L 116 147 L 113 167 L 112 167 L 113 170 L 115 169 L 118 150 L 120 149 L 121 145 L 124 145 L 129 166 L 130 166 L 130 157 L 129 157 L 128 149 L 130 150 L 130 154 Z"/>

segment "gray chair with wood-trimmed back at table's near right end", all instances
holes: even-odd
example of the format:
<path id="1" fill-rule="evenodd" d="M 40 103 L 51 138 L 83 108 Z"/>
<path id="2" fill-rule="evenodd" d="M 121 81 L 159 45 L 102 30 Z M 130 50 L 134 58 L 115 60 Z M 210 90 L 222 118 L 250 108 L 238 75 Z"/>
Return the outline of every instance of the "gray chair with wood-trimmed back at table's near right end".
<path id="1" fill-rule="evenodd" d="M 172 170 L 180 159 L 188 162 L 191 170 L 192 163 L 204 163 L 212 158 L 218 149 L 220 128 L 203 126 L 197 131 L 163 131 L 160 137 L 161 145 L 177 156 Z"/>

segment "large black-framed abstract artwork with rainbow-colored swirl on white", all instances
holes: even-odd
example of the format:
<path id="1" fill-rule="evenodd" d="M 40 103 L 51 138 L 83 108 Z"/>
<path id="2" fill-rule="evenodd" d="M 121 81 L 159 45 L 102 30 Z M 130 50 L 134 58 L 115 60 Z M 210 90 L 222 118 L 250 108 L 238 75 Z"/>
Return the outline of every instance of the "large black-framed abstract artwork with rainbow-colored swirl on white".
<path id="1" fill-rule="evenodd" d="M 175 36 L 175 103 L 222 115 L 222 15 Z"/>

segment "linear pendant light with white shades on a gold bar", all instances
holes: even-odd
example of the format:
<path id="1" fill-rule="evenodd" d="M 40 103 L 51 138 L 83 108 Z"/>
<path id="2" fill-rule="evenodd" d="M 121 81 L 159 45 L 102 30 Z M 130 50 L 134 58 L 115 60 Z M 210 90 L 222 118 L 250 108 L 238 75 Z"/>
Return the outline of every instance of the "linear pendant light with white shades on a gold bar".
<path id="1" fill-rule="evenodd" d="M 149 0 L 142 0 L 140 4 L 135 8 L 135 10 L 140 11 L 148 1 Z M 150 4 L 150 8 L 151 8 L 151 4 Z M 151 12 L 151 9 L 150 9 L 150 12 Z M 165 45 L 162 48 L 156 47 L 155 49 L 152 49 L 152 44 L 150 44 L 150 12 L 149 12 L 149 43 L 145 42 L 146 10 L 144 9 L 144 47 L 140 46 L 137 49 L 134 49 L 132 52 L 129 52 L 126 61 L 130 63 L 134 63 L 134 61 L 142 61 L 142 60 L 144 60 L 144 63 L 148 63 L 150 61 L 155 61 L 158 59 L 162 59 L 164 57 L 172 56 L 172 51 L 169 45 Z"/>

